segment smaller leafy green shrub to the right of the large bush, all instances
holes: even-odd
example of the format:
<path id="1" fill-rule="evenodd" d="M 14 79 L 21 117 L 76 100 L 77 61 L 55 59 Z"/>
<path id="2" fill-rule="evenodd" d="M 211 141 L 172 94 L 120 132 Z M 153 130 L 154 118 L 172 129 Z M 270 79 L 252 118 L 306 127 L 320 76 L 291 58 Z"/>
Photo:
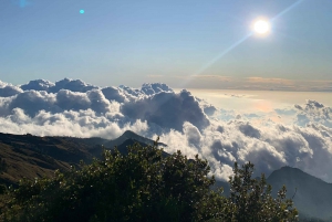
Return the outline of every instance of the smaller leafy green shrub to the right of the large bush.
<path id="1" fill-rule="evenodd" d="M 229 178 L 232 220 L 238 222 L 298 221 L 298 211 L 293 208 L 292 200 L 286 199 L 284 186 L 278 192 L 278 198 L 273 199 L 272 188 L 267 184 L 264 175 L 261 175 L 259 180 L 251 178 L 253 173 L 251 162 L 243 165 L 241 169 L 236 162 L 234 173 L 234 177 Z"/>

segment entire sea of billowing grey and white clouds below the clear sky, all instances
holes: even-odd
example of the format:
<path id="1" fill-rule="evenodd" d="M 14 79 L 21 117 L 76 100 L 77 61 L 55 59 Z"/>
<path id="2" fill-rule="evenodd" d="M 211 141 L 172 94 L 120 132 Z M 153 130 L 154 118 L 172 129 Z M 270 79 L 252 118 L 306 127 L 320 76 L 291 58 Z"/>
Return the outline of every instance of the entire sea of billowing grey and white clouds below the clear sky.
<path id="1" fill-rule="evenodd" d="M 235 161 L 250 160 L 259 173 L 291 166 L 332 182 L 332 108 L 308 99 L 274 114 L 292 121 L 215 107 L 160 83 L 102 88 L 69 78 L 18 86 L 0 81 L 1 133 L 113 139 L 129 129 L 159 136 L 167 152 L 199 154 L 221 180 Z"/>

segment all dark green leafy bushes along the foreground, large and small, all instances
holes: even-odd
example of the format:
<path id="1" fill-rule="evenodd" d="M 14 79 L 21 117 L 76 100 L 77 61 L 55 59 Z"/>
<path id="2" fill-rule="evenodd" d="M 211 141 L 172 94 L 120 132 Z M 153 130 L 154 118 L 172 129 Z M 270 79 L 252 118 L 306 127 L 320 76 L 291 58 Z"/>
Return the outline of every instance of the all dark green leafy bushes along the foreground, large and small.
<path id="1" fill-rule="evenodd" d="M 55 171 L 52 179 L 23 179 L 2 199 L 3 221 L 297 221 L 286 188 L 277 199 L 264 176 L 252 179 L 253 165 L 235 165 L 231 194 L 211 191 L 206 160 L 180 151 L 163 156 L 135 144 L 128 154 L 104 150 L 81 169 Z"/>

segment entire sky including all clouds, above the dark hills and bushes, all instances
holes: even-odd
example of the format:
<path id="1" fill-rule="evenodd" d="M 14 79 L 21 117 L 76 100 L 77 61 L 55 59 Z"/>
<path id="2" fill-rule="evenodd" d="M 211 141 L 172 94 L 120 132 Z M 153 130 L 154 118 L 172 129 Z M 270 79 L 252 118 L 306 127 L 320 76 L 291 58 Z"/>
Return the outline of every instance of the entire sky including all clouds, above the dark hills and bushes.
<path id="1" fill-rule="evenodd" d="M 332 182 L 331 0 L 0 0 L 0 131 L 160 137 Z M 266 35 L 252 32 L 258 18 Z M 282 92 L 281 92 L 282 91 Z"/>

